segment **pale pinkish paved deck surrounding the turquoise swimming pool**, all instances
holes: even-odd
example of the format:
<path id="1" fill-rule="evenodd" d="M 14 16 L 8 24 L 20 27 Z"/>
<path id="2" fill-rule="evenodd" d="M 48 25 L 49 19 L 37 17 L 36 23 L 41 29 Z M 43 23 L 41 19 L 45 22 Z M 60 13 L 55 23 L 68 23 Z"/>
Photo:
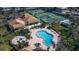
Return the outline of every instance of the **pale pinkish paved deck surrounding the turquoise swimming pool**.
<path id="1" fill-rule="evenodd" d="M 38 31 L 41 31 L 41 30 L 47 31 L 48 33 L 54 35 L 52 41 L 53 41 L 55 44 L 57 44 L 58 34 L 57 34 L 55 31 L 49 30 L 49 29 L 46 29 L 46 28 L 42 28 L 42 29 L 41 29 L 41 28 L 39 28 L 39 29 L 30 29 L 32 39 L 30 39 L 29 45 L 32 47 L 32 49 L 35 49 L 35 48 L 36 48 L 35 45 L 34 45 L 35 43 L 40 43 L 40 44 L 41 44 L 40 47 L 41 47 L 42 49 L 44 49 L 44 50 L 47 50 L 47 47 L 48 47 L 48 46 L 45 46 L 45 45 L 43 44 L 43 39 L 42 39 L 42 38 L 38 38 L 38 37 L 36 36 L 36 33 L 37 33 Z M 55 48 L 53 48 L 53 46 L 50 46 L 49 51 L 52 51 L 52 50 L 55 50 Z"/>

